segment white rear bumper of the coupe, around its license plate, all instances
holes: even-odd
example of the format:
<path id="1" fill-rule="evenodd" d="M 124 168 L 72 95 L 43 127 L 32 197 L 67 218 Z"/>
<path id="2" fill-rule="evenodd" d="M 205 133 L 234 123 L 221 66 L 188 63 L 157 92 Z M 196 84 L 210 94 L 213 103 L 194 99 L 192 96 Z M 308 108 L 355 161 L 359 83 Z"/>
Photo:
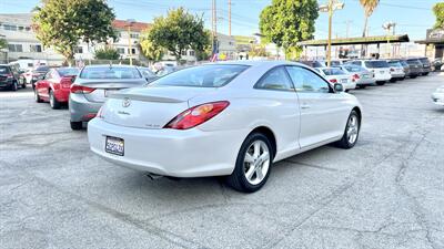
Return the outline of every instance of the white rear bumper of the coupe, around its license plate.
<path id="1" fill-rule="evenodd" d="M 105 152 L 107 136 L 124 141 L 123 156 Z M 230 175 L 244 136 L 243 129 L 144 129 L 113 125 L 100 118 L 88 124 L 93 153 L 128 168 L 173 177 Z"/>

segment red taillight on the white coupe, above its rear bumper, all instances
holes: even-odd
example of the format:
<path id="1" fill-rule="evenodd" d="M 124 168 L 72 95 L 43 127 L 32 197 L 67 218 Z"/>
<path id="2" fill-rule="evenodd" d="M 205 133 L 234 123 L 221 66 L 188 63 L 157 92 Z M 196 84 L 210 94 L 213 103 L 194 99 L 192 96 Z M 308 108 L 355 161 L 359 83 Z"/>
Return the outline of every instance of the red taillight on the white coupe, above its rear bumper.
<path id="1" fill-rule="evenodd" d="M 228 101 L 212 102 L 191 107 L 175 116 L 164 128 L 189 129 L 211 120 L 230 105 Z"/>

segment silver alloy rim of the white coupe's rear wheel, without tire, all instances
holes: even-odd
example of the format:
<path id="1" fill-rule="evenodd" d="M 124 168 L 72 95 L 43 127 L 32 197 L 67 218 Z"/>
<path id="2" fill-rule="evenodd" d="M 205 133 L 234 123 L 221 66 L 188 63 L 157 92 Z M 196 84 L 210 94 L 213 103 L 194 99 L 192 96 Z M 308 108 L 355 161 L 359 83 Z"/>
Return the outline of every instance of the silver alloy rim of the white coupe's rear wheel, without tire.
<path id="1" fill-rule="evenodd" d="M 251 185 L 258 185 L 265 178 L 270 168 L 270 151 L 263 141 L 253 142 L 245 152 L 243 173 Z"/>

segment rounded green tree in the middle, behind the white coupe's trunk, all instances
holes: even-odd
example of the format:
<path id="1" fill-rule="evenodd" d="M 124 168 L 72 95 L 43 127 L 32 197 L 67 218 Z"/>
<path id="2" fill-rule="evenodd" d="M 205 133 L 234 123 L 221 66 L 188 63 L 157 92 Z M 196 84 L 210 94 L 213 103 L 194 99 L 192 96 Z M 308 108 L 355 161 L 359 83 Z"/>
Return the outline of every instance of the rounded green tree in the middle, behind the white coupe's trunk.
<path id="1" fill-rule="evenodd" d="M 148 39 L 171 51 L 178 62 L 183 51 L 203 51 L 210 44 L 202 18 L 190 14 L 183 8 L 170 10 L 167 17 L 155 18 Z"/>

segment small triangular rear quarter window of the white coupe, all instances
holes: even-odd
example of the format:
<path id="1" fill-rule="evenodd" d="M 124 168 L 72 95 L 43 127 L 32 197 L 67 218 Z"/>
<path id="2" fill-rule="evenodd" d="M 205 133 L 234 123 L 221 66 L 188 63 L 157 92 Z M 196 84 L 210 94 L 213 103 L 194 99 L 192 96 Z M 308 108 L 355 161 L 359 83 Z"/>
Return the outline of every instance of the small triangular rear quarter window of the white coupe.
<path id="1" fill-rule="evenodd" d="M 294 91 L 293 83 L 290 81 L 283 66 L 266 72 L 254 85 L 254 89 Z"/>

